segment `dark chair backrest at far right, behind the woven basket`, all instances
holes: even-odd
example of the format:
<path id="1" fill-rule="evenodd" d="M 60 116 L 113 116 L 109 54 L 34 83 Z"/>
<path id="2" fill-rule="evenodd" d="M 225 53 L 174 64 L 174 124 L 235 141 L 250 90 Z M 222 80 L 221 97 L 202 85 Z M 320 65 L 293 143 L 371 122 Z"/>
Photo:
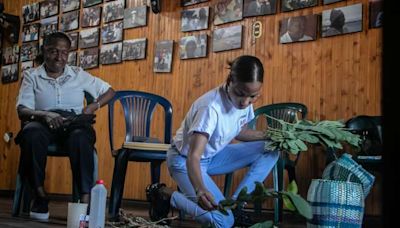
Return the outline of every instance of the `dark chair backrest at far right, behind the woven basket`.
<path id="1" fill-rule="evenodd" d="M 382 118 L 381 116 L 359 115 L 349 119 L 346 127 L 361 136 L 359 151 L 363 155 L 382 155 Z"/>

